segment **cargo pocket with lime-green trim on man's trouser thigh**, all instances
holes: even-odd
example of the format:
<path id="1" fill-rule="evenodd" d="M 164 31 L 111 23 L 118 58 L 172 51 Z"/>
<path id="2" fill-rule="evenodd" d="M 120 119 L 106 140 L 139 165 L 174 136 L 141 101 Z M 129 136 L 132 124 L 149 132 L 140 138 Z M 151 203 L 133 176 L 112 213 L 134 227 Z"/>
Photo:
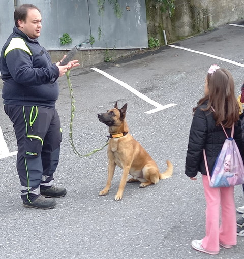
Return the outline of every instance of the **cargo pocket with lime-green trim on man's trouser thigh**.
<path id="1" fill-rule="evenodd" d="M 36 135 L 24 136 L 24 152 L 26 158 L 36 158 L 41 155 L 43 140 Z"/>

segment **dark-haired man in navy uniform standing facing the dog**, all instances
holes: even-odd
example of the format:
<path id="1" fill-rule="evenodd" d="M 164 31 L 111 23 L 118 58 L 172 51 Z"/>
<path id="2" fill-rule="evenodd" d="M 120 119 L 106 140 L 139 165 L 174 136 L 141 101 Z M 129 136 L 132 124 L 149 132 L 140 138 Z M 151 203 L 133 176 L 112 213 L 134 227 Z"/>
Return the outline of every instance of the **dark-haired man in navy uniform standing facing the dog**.
<path id="1" fill-rule="evenodd" d="M 23 205 L 50 209 L 56 205 L 53 198 L 66 195 L 65 188 L 53 185 L 62 140 L 55 109 L 59 95 L 56 80 L 79 64 L 78 60 L 65 66 L 51 63 L 49 54 L 38 43 L 42 17 L 36 6 L 21 5 L 14 12 L 14 20 L 13 33 L 0 56 L 4 109 L 17 139 Z"/>

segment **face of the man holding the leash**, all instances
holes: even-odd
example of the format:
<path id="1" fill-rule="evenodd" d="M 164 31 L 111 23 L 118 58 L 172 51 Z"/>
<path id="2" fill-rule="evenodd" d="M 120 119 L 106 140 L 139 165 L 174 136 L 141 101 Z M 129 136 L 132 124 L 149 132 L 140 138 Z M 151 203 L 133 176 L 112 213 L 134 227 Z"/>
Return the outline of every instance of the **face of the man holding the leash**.
<path id="1" fill-rule="evenodd" d="M 18 20 L 19 29 L 31 39 L 38 38 L 42 28 L 42 16 L 37 9 L 29 9 L 26 21 Z"/>

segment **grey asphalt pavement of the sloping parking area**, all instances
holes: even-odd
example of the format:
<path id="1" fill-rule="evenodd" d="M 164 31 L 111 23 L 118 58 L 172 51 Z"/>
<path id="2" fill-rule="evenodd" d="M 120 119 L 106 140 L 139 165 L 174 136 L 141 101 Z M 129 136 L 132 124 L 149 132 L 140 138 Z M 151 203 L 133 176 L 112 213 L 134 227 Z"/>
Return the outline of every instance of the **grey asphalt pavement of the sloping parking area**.
<path id="1" fill-rule="evenodd" d="M 244 27 L 224 25 L 174 45 L 243 63 L 243 35 Z M 212 257 L 191 248 L 193 239 L 204 237 L 205 199 L 201 175 L 197 181 L 185 176 L 185 158 L 192 108 L 203 95 L 208 68 L 215 63 L 232 73 L 236 95 L 240 94 L 243 67 L 169 46 L 96 66 L 161 105 L 177 104 L 153 114 L 145 112 L 154 106 L 94 70 L 71 71 L 76 106 L 73 137 L 81 154 L 105 144 L 107 127 L 99 122 L 97 113 L 106 112 L 118 100 L 119 107 L 128 103 L 130 133 L 157 161 L 161 171 L 166 169 L 166 159 L 174 164 L 172 178 L 144 189 L 138 183 L 127 184 L 119 202 L 114 201 L 121 177 L 119 168 L 109 194 L 98 196 L 107 179 L 106 148 L 84 158 L 72 151 L 69 89 L 66 78 L 60 78 L 56 108 L 63 142 L 55 180 L 67 188 L 67 196 L 57 199 L 52 210 L 23 208 L 16 156 L 0 159 L 0 258 Z M 2 102 L 0 117 L 5 141 L 9 151 L 14 152 L 14 131 Z M 241 186 L 235 188 L 235 201 L 236 207 L 244 205 Z M 233 249 L 221 248 L 215 258 L 242 259 L 244 237 L 237 240 Z"/>

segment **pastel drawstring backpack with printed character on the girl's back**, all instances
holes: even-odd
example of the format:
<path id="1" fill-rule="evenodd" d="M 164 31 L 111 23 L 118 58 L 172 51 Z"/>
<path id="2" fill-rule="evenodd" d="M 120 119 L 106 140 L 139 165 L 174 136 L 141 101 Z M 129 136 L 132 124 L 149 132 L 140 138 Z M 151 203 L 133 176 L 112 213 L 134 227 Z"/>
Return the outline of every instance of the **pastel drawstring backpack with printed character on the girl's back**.
<path id="1" fill-rule="evenodd" d="M 231 137 L 228 137 L 223 126 L 222 128 L 225 132 L 226 140 L 216 159 L 215 166 L 212 169 L 211 177 L 209 175 L 206 153 L 203 149 L 203 156 L 209 180 L 209 186 L 212 188 L 229 187 L 238 184 L 244 184 L 243 160 L 241 158 L 240 151 L 236 145 L 236 142 L 233 139 L 234 124 L 231 130 Z"/>

